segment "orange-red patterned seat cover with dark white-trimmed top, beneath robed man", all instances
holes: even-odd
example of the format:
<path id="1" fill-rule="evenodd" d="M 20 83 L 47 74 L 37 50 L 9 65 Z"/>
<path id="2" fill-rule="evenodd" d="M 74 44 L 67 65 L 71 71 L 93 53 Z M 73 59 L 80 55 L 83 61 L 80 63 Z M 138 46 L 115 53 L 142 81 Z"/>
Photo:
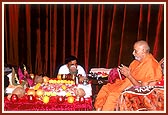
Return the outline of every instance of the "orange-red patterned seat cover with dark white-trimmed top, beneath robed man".
<path id="1" fill-rule="evenodd" d="M 132 86 L 119 97 L 116 111 L 163 111 L 163 86 Z"/>

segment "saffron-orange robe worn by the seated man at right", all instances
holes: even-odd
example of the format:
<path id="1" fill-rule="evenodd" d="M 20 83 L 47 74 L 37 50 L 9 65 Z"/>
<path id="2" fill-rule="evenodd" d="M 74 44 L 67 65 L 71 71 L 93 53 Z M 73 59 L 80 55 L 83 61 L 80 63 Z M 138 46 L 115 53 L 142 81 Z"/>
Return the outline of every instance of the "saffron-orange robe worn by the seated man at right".
<path id="1" fill-rule="evenodd" d="M 142 62 L 133 60 L 129 66 L 131 75 L 140 82 L 159 81 L 162 78 L 161 66 L 157 60 L 149 54 Z M 102 108 L 102 111 L 114 111 L 121 92 L 133 84 L 128 78 L 117 79 L 115 83 L 108 83 L 100 89 L 94 103 L 95 109 Z"/>

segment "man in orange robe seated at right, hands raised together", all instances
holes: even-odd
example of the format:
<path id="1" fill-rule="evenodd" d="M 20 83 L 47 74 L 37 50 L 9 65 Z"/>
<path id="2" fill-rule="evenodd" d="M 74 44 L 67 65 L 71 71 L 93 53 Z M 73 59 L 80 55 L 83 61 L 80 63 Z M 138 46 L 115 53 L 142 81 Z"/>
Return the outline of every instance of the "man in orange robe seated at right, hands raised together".
<path id="1" fill-rule="evenodd" d="M 150 53 L 146 41 L 137 41 L 134 44 L 133 55 L 135 60 L 129 67 L 119 66 L 119 71 L 125 79 L 116 79 L 115 83 L 104 85 L 95 100 L 94 107 L 97 111 L 115 111 L 115 106 L 121 92 L 129 86 L 148 85 L 152 81 L 160 81 L 162 70 L 157 60 Z"/>

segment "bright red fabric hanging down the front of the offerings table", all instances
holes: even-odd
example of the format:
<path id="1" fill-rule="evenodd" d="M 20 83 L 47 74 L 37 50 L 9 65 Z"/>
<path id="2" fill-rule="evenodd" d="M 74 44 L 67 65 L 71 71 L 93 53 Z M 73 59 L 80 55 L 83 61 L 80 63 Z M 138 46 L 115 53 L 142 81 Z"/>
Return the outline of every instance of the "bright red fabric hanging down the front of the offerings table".
<path id="1" fill-rule="evenodd" d="M 5 97 L 4 111 L 92 111 L 92 98 L 86 98 L 85 103 L 79 101 L 68 103 L 67 100 L 58 103 L 56 100 L 57 97 L 53 96 L 49 103 L 44 104 L 40 100 L 28 102 L 26 96 L 20 98 L 18 102 L 11 102 Z"/>

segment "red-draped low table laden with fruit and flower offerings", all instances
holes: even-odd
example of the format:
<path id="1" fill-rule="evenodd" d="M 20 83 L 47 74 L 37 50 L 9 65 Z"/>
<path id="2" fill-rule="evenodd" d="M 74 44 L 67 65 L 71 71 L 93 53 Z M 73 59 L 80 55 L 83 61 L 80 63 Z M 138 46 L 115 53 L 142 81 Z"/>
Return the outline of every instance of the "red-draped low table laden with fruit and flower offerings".
<path id="1" fill-rule="evenodd" d="M 5 100 L 4 110 L 82 111 L 92 110 L 91 85 L 75 85 L 74 80 L 48 79 L 26 88 L 15 103 Z M 90 90 L 89 90 L 90 89 Z M 19 108 L 18 108 L 18 105 Z"/>

